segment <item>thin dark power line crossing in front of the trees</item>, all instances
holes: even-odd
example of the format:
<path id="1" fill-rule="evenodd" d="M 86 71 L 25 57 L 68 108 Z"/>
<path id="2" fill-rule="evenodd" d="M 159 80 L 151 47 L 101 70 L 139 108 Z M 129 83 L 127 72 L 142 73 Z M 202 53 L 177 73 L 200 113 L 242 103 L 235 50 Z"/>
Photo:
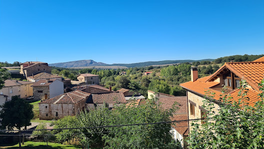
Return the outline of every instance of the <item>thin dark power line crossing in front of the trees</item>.
<path id="1" fill-rule="evenodd" d="M 34 130 L 64 130 L 64 129 L 104 128 L 104 127 L 131 126 L 131 125 L 147 125 L 147 124 L 172 123 L 172 122 L 182 122 L 182 121 L 192 121 L 192 120 L 202 120 L 202 119 L 205 119 L 205 118 L 184 119 L 184 120 L 173 120 L 173 121 L 161 121 L 161 122 L 150 122 L 150 123 L 134 123 L 134 124 L 120 124 L 120 125 L 104 125 L 104 126 L 92 126 L 92 127 L 56 128 L 56 129 L 26 129 L 26 130 L 0 130 L 0 131 L 34 131 Z"/>

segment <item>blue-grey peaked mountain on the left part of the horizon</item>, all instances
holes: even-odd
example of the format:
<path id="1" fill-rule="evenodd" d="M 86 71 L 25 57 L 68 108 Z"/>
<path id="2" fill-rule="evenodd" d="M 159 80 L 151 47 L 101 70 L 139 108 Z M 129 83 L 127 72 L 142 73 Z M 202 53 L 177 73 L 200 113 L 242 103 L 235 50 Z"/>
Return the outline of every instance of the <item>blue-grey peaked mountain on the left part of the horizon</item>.
<path id="1" fill-rule="evenodd" d="M 49 63 L 48 65 L 68 68 L 68 67 L 107 65 L 107 64 L 103 62 L 96 62 L 89 59 L 89 60 L 76 60 L 76 61 L 68 61 L 68 62 Z"/>

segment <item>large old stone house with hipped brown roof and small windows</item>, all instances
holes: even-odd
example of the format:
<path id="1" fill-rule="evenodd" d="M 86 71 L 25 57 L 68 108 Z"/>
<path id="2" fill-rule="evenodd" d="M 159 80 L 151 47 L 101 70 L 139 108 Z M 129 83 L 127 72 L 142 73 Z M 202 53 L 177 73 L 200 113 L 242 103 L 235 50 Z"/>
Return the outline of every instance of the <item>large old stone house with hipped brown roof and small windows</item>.
<path id="1" fill-rule="evenodd" d="M 85 109 L 85 101 L 90 93 L 75 90 L 44 99 L 39 102 L 39 119 L 60 119 L 67 115 L 76 115 Z"/>

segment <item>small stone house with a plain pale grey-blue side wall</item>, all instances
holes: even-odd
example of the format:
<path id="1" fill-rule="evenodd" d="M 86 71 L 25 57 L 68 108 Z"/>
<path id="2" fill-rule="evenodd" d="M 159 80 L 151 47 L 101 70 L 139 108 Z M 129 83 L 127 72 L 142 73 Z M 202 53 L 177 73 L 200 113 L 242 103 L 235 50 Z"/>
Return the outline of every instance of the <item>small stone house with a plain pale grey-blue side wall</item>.
<path id="1" fill-rule="evenodd" d="M 64 93 L 63 82 L 54 78 L 40 79 L 31 86 L 33 87 L 34 99 L 37 100 L 53 98 Z"/>

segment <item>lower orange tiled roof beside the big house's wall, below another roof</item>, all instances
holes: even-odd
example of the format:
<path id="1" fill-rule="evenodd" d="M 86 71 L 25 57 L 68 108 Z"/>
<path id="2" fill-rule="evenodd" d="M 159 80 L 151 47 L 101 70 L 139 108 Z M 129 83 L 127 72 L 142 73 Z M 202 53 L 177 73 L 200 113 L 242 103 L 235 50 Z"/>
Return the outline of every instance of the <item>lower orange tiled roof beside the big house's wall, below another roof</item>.
<path id="1" fill-rule="evenodd" d="M 171 120 L 186 120 L 188 119 L 187 114 L 186 115 L 174 115 Z M 183 122 L 174 122 L 173 128 L 178 131 L 180 134 L 183 136 L 187 136 L 189 133 L 188 130 L 188 121 L 183 121 Z"/>

